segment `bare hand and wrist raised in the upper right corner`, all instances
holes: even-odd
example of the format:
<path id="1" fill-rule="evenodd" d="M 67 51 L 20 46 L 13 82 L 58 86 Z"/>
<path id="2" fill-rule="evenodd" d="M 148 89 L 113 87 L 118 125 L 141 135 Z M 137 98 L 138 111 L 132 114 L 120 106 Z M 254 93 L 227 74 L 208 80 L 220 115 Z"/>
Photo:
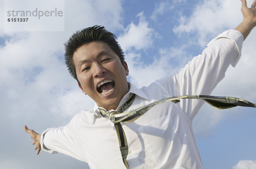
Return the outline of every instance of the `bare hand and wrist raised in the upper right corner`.
<path id="1" fill-rule="evenodd" d="M 240 31 L 244 35 L 244 39 L 250 31 L 256 26 L 256 0 L 253 1 L 251 8 L 247 7 L 246 0 L 242 1 L 241 11 L 244 15 L 244 20 L 238 25 L 235 30 Z"/>

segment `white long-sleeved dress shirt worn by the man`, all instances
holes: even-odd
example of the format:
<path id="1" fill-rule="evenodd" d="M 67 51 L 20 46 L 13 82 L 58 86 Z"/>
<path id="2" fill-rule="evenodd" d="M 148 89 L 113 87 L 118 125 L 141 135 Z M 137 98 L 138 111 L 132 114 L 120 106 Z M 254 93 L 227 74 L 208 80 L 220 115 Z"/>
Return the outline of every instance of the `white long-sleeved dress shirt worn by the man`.
<path id="1" fill-rule="evenodd" d="M 129 83 L 130 90 L 119 107 L 129 93 L 135 93 L 136 98 L 126 111 L 167 96 L 209 95 L 223 79 L 227 67 L 238 62 L 242 42 L 239 31 L 224 31 L 178 73 L 140 89 Z M 197 99 L 166 102 L 130 124 L 121 122 L 128 141 L 130 169 L 202 169 L 192 120 L 203 103 Z M 64 127 L 45 130 L 41 147 L 87 162 L 90 169 L 125 169 L 114 125 L 100 115 L 97 105 L 93 110 L 81 111 Z"/>

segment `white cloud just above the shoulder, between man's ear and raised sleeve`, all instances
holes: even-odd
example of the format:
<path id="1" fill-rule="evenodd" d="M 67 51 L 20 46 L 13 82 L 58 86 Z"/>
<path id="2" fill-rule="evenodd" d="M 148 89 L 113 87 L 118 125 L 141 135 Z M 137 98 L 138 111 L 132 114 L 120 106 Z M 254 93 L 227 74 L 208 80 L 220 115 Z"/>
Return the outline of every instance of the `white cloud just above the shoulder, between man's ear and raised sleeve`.
<path id="1" fill-rule="evenodd" d="M 128 53 L 126 59 L 130 70 L 131 82 L 137 87 L 142 87 L 177 71 L 192 57 L 183 48 L 160 49 L 157 56 L 154 56 L 154 60 L 148 65 L 141 62 L 140 54 Z"/>

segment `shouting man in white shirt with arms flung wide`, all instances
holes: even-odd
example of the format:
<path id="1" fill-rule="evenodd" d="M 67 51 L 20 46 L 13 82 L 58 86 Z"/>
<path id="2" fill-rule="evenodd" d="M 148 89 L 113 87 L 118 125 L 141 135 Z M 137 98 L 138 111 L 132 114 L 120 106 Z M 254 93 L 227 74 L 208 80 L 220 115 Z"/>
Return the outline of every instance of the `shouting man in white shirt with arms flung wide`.
<path id="1" fill-rule="evenodd" d="M 127 82 L 128 65 L 113 34 L 100 26 L 73 34 L 65 43 L 66 64 L 82 92 L 96 104 L 66 126 L 47 129 L 41 135 L 25 126 L 37 154 L 41 148 L 61 152 L 87 162 L 91 169 L 203 168 L 192 130 L 202 101 L 166 102 L 130 123 L 113 124 L 107 110 L 129 112 L 166 96 L 209 95 L 227 67 L 236 65 L 242 41 L 256 26 L 256 0 L 251 8 L 246 0 L 241 1 L 244 20 L 235 30 L 218 35 L 179 73 L 141 89 Z"/>

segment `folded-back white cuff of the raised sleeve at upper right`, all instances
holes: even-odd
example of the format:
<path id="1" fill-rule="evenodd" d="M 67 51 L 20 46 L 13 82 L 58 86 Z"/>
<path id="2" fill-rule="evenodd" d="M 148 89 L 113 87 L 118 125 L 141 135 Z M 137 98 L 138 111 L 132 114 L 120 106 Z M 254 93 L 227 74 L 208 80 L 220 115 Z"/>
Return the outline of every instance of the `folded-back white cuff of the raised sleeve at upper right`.
<path id="1" fill-rule="evenodd" d="M 237 51 L 238 51 L 238 55 L 237 56 L 234 56 L 234 59 L 233 61 L 231 62 L 231 65 L 233 67 L 236 66 L 237 62 L 239 61 L 240 59 L 240 56 L 241 56 L 241 49 L 242 49 L 242 44 L 243 44 L 243 41 L 244 41 L 244 36 L 243 34 L 241 34 L 240 31 L 237 31 L 237 30 L 234 30 L 234 29 L 229 29 L 227 31 L 224 31 L 223 33 L 219 34 L 217 37 L 215 37 L 214 39 L 212 39 L 207 46 L 209 46 L 212 42 L 214 42 L 215 40 L 219 39 L 219 38 L 229 38 L 231 40 L 233 40 L 233 42 L 235 42 L 236 44 L 236 48 L 237 48 Z"/>

